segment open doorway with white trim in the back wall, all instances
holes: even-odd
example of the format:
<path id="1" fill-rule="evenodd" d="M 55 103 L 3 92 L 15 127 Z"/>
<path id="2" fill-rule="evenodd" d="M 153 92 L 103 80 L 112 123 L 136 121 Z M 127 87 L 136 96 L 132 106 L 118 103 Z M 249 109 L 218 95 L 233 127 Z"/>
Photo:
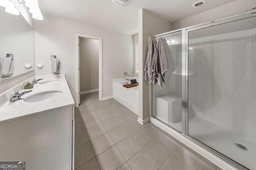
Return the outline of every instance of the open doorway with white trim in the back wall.
<path id="1" fill-rule="evenodd" d="M 102 38 L 76 34 L 76 107 L 80 95 L 99 92 L 102 101 Z"/>

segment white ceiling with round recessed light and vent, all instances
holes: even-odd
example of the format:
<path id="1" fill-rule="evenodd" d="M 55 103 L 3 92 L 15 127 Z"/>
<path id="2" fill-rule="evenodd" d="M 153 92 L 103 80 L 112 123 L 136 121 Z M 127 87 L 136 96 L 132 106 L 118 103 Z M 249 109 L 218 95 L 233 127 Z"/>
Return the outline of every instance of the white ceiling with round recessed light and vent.
<path id="1" fill-rule="evenodd" d="M 138 33 L 138 11 L 142 8 L 173 22 L 234 0 L 207 0 L 198 8 L 192 7 L 197 0 L 130 0 L 124 7 L 113 4 L 112 0 L 38 1 L 42 14 L 133 35 Z"/>

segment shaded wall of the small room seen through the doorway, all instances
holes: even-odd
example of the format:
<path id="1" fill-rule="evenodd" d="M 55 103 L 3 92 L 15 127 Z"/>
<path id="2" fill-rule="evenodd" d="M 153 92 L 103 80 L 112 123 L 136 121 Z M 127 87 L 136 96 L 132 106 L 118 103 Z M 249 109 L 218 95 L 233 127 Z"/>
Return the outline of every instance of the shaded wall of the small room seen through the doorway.
<path id="1" fill-rule="evenodd" d="M 99 40 L 80 39 L 80 92 L 99 88 Z"/>

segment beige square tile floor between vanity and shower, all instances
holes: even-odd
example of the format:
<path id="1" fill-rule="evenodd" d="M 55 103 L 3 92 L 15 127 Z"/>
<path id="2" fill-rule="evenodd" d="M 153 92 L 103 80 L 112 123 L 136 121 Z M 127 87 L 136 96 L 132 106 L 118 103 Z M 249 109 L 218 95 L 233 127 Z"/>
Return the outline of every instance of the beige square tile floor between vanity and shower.
<path id="1" fill-rule="evenodd" d="M 220 170 L 152 123 L 98 92 L 81 95 L 75 109 L 77 170 Z"/>

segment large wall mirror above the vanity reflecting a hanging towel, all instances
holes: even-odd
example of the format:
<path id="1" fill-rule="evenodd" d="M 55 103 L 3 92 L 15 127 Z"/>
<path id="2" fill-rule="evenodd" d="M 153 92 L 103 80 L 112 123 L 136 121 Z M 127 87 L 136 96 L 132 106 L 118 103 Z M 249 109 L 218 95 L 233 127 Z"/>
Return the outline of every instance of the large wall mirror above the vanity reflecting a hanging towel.
<path id="1" fill-rule="evenodd" d="M 34 70 L 34 29 L 0 6 L 0 81 Z"/>

